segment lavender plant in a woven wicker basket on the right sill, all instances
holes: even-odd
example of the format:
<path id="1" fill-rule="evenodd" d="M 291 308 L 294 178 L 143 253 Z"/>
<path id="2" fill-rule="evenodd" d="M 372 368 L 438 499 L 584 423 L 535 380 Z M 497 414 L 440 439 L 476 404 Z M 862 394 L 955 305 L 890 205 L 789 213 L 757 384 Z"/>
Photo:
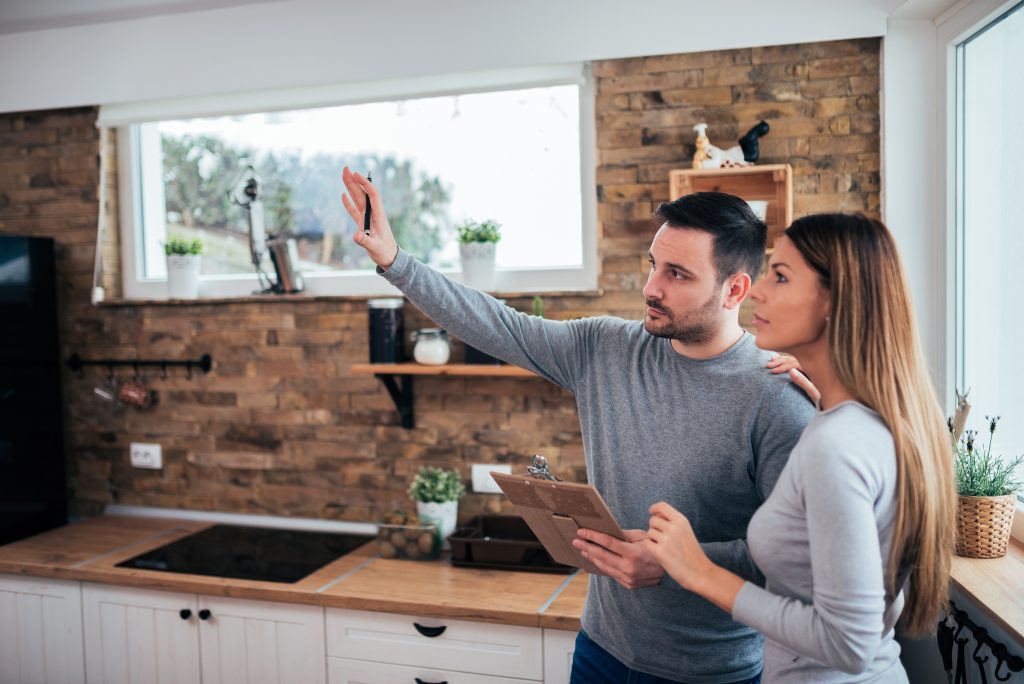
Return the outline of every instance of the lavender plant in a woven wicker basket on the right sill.
<path id="1" fill-rule="evenodd" d="M 1010 461 L 992 454 L 992 440 L 999 416 L 985 416 L 988 440 L 978 441 L 977 430 L 959 437 L 970 404 L 958 402 L 957 415 L 948 422 L 953 437 L 956 474 L 956 554 L 970 558 L 999 558 L 1007 554 L 1010 530 L 1021 482 L 1014 479 L 1024 456 Z"/>

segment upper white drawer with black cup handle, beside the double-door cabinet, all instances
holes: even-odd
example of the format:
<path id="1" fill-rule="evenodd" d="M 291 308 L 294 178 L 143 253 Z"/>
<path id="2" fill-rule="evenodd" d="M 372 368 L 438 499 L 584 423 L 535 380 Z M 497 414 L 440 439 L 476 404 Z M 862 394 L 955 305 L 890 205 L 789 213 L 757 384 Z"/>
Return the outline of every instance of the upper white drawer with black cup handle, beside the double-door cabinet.
<path id="1" fill-rule="evenodd" d="M 540 680 L 543 653 L 542 633 L 536 628 L 327 610 L 329 656 Z"/>

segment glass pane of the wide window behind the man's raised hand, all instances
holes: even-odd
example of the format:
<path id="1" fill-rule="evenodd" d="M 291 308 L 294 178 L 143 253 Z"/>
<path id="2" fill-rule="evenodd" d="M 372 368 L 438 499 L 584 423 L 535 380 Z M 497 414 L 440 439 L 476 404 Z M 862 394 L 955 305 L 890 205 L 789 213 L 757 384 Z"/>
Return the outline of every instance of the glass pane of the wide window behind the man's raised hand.
<path id="1" fill-rule="evenodd" d="M 205 273 L 251 273 L 248 216 L 227 191 L 252 163 L 266 231 L 300 268 L 369 269 L 341 205 L 343 166 L 373 174 L 398 242 L 458 268 L 454 226 L 495 219 L 504 268 L 580 266 L 580 88 L 501 92 L 159 124 L 167 234 L 201 238 Z M 156 231 L 159 228 L 151 227 Z"/>

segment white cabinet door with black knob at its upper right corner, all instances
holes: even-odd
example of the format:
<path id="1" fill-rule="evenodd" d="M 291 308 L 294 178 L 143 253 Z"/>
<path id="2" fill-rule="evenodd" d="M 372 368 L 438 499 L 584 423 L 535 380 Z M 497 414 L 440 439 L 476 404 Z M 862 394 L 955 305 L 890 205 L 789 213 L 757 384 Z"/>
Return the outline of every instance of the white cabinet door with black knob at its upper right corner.
<path id="1" fill-rule="evenodd" d="M 200 681 L 195 595 L 86 584 L 82 606 L 90 684 Z"/>

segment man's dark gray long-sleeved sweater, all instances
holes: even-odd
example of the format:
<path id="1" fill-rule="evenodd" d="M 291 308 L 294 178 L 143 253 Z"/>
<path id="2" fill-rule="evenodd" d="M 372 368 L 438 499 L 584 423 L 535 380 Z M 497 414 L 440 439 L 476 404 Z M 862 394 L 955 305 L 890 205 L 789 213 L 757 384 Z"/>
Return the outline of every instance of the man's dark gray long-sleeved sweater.
<path id="1" fill-rule="evenodd" d="M 623 528 L 667 501 L 721 565 L 762 582 L 744 538 L 813 407 L 743 337 L 715 358 L 677 353 L 640 322 L 547 320 L 453 283 L 399 251 L 384 274 L 464 342 L 575 395 L 587 472 Z M 639 294 L 638 294 L 639 296 Z M 748 679 L 762 638 L 668 575 L 630 591 L 591 578 L 583 627 L 628 667 L 682 682 Z"/>

